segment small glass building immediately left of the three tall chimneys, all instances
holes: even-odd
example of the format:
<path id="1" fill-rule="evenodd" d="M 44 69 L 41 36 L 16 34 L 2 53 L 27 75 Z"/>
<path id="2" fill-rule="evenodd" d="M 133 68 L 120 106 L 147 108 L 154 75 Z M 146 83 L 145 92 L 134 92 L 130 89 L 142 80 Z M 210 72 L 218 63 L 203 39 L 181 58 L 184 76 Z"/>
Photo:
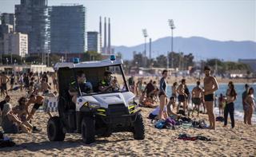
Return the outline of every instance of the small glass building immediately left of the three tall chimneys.
<path id="1" fill-rule="evenodd" d="M 87 32 L 87 51 L 101 53 L 100 36 L 98 32 Z"/>

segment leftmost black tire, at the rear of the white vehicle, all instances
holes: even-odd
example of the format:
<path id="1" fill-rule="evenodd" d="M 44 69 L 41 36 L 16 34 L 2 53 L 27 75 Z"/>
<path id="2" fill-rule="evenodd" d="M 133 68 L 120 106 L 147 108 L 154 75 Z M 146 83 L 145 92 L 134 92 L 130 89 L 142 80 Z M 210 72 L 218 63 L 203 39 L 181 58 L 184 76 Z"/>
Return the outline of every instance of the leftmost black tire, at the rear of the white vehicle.
<path id="1" fill-rule="evenodd" d="M 65 139 L 62 122 L 58 116 L 51 117 L 48 120 L 47 135 L 50 141 L 63 141 Z"/>

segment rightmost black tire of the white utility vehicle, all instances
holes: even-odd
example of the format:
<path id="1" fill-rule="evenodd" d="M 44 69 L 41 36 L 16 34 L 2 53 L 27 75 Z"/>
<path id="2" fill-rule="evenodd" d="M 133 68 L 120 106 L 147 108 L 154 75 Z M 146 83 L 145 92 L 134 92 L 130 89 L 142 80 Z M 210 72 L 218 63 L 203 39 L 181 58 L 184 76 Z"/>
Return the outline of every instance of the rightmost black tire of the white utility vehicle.
<path id="1" fill-rule="evenodd" d="M 137 118 L 134 121 L 134 139 L 145 139 L 145 126 L 140 113 L 138 113 Z"/>

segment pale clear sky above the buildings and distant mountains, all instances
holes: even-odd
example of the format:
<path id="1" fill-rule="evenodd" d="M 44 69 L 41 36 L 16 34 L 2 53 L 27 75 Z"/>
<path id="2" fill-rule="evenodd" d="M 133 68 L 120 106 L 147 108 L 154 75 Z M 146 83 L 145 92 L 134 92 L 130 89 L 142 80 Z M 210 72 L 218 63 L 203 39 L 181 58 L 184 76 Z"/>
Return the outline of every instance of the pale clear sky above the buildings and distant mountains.
<path id="1" fill-rule="evenodd" d="M 0 0 L 0 12 L 14 13 L 20 0 Z M 218 41 L 256 41 L 256 0 L 48 0 L 48 6 L 78 3 L 86 6 L 86 31 L 98 31 L 99 16 L 111 18 L 112 45 L 174 37 L 206 37 Z"/>

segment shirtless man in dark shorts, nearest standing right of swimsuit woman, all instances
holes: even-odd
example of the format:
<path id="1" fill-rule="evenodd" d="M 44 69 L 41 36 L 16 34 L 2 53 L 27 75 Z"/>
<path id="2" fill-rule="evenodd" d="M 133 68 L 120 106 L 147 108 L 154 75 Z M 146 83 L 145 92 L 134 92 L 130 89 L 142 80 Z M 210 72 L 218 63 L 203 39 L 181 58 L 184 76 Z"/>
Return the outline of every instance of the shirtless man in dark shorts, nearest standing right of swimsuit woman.
<path id="1" fill-rule="evenodd" d="M 185 84 L 186 80 L 182 79 L 182 83 L 178 85 L 177 92 L 178 92 L 178 107 L 177 107 L 177 112 L 179 109 L 179 106 L 182 103 L 183 111 L 185 112 L 186 109 L 186 93 L 185 93 Z"/>

